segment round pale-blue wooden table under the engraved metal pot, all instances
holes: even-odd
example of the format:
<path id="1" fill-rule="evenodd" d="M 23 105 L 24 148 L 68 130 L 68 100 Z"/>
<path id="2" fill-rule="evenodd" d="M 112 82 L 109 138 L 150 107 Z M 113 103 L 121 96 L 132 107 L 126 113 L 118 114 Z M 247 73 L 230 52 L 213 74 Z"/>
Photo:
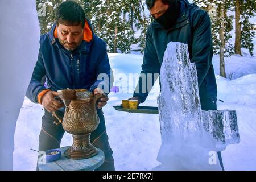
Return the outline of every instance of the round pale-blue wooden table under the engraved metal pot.
<path id="1" fill-rule="evenodd" d="M 69 146 L 68 146 L 69 147 Z M 89 159 L 74 160 L 64 156 L 68 147 L 61 147 L 61 158 L 54 162 L 38 164 L 39 171 L 94 171 L 104 163 L 104 152 L 98 148 L 98 154 Z M 42 161 L 40 156 L 38 161 Z"/>

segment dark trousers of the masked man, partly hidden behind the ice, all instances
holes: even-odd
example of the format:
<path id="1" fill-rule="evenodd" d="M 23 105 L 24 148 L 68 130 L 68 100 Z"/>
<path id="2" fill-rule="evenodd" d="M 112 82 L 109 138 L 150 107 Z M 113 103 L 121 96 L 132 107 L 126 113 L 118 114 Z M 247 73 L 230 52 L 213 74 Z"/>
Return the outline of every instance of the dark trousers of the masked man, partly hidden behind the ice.
<path id="1" fill-rule="evenodd" d="M 217 110 L 217 103 L 216 103 L 217 97 L 200 98 L 200 102 L 201 102 L 202 110 Z M 218 160 L 220 161 L 222 171 L 224 171 L 221 152 L 218 151 L 217 154 L 218 154 Z"/>

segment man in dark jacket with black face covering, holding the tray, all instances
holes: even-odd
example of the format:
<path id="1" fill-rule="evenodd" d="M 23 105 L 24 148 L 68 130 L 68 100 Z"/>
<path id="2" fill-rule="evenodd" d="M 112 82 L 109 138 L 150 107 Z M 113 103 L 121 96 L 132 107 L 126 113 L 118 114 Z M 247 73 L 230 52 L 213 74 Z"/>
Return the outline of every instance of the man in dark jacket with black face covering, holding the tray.
<path id="1" fill-rule="evenodd" d="M 146 75 L 146 82 L 139 79 L 130 100 L 138 100 L 139 103 L 146 100 L 150 92 L 148 88 L 154 85 L 155 75 L 160 74 L 167 44 L 181 42 L 188 44 L 191 63 L 196 63 L 201 109 L 216 110 L 217 84 L 212 65 L 211 22 L 207 11 L 187 0 L 147 0 L 146 4 L 154 18 L 147 30 L 141 71 L 142 75 Z M 150 78 L 152 85 L 147 85 Z M 220 152 L 218 158 L 224 170 Z"/>

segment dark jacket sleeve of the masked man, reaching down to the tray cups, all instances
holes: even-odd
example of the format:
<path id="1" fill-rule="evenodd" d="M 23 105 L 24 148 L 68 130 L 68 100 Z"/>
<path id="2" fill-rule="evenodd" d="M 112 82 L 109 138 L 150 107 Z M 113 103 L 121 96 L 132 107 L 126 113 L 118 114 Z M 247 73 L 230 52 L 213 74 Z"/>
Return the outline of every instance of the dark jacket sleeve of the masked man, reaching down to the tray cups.
<path id="1" fill-rule="evenodd" d="M 146 100 L 148 93 L 158 78 L 161 68 L 156 49 L 151 40 L 150 28 L 148 27 L 146 34 L 146 47 L 144 50 L 141 76 L 133 94 L 134 97 L 139 96 L 142 103 Z"/>

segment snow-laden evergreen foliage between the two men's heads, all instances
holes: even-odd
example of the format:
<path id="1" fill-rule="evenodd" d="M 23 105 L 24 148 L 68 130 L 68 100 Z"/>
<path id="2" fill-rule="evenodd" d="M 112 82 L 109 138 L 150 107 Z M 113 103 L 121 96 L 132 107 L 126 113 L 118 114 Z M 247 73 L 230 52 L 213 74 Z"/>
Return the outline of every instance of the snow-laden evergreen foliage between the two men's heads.
<path id="1" fill-rule="evenodd" d="M 116 49 L 130 52 L 134 43 L 138 43 L 143 52 L 146 31 L 152 21 L 145 13 L 147 7 L 144 0 L 86 1 L 86 7 L 90 6 L 86 9 L 95 32 L 106 40 L 110 52 Z M 134 37 L 134 31 L 140 32 L 139 38 Z"/>

